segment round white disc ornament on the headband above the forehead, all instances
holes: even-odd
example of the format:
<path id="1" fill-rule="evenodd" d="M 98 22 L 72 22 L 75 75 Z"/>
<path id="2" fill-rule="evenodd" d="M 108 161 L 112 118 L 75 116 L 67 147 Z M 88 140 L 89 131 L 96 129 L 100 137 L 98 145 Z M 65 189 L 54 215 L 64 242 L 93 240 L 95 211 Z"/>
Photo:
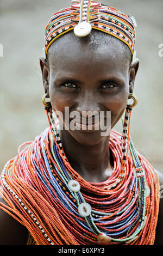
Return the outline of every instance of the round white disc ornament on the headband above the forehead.
<path id="1" fill-rule="evenodd" d="M 88 22 L 81 22 L 76 27 L 74 27 L 74 34 L 77 36 L 86 36 L 91 33 L 92 26 Z"/>

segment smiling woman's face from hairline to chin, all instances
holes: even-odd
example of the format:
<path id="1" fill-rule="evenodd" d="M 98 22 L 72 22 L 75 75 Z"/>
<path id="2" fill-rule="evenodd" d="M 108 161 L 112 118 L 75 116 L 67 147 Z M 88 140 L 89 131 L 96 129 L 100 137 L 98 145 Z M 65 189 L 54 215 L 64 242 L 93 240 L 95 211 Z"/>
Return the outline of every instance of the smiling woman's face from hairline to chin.
<path id="1" fill-rule="evenodd" d="M 53 110 L 60 111 L 64 119 L 65 107 L 70 113 L 77 111 L 81 116 L 83 111 L 103 111 L 106 117 L 106 112 L 110 111 L 112 129 L 126 108 L 134 83 L 130 59 L 124 58 L 120 44 L 118 40 L 117 46 L 110 43 L 92 47 L 77 40 L 60 43 L 59 51 L 51 53 L 48 68 L 43 72 L 47 74 L 46 90 Z M 101 130 L 62 132 L 68 132 L 85 145 L 97 144 L 105 137 L 101 136 Z"/>

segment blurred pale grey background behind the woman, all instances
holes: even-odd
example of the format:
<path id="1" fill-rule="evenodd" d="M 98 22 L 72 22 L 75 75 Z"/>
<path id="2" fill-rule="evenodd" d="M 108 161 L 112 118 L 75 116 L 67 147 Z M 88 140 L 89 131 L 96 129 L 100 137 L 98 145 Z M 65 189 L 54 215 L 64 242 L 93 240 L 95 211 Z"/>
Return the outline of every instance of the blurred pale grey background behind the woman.
<path id="1" fill-rule="evenodd" d="M 17 155 L 18 146 L 32 141 L 48 126 L 41 103 L 43 86 L 35 66 L 42 53 L 45 27 L 55 11 L 70 0 L 0 0 L 0 172 Z M 102 0 L 137 21 L 136 51 L 140 68 L 135 81 L 138 105 L 130 135 L 136 149 L 163 172 L 163 44 L 162 0 Z M 116 130 L 122 132 L 121 123 Z"/>

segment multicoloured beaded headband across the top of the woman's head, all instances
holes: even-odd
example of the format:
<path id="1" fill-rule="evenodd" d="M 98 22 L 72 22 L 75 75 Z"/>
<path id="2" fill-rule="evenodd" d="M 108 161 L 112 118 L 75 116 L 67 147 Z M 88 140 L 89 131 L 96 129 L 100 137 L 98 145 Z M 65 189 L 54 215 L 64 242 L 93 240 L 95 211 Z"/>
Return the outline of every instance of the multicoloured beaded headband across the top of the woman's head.
<path id="1" fill-rule="evenodd" d="M 115 8 L 101 5 L 95 0 L 72 0 L 71 7 L 59 10 L 49 20 L 45 31 L 43 57 L 47 59 L 48 48 L 62 34 L 74 29 L 77 36 L 86 36 L 93 28 L 123 41 L 135 59 L 136 26 L 133 16 L 127 16 Z"/>

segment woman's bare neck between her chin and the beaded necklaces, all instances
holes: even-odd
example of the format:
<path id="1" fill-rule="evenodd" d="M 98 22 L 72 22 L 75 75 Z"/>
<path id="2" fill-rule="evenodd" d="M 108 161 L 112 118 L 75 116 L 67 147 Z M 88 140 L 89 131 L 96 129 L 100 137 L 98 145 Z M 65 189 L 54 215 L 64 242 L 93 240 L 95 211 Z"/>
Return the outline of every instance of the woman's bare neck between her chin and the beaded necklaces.
<path id="1" fill-rule="evenodd" d="M 109 137 L 96 145 L 83 145 L 68 131 L 59 131 L 62 146 L 72 168 L 87 182 L 102 182 L 109 178 L 113 159 L 109 150 Z"/>

